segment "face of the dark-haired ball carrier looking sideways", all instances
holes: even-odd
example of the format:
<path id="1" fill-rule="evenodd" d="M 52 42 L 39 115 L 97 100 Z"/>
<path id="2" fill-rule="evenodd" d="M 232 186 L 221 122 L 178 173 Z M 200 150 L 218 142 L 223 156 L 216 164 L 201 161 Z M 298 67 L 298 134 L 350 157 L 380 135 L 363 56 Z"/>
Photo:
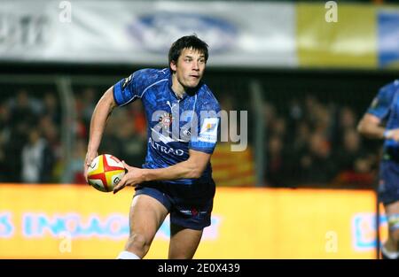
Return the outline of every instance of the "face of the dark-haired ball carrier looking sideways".
<path id="1" fill-rule="evenodd" d="M 205 56 L 202 52 L 192 49 L 184 49 L 170 67 L 176 72 L 176 79 L 184 88 L 195 88 L 198 86 L 205 71 Z"/>

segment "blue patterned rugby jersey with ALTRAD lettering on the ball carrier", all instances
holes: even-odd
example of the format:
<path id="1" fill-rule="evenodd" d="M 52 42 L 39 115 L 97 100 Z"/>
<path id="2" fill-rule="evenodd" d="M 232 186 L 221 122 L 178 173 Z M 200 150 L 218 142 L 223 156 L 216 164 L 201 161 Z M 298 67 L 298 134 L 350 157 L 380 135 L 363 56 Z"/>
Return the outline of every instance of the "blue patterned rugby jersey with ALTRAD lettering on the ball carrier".
<path id="1" fill-rule="evenodd" d="M 176 165 L 189 158 L 189 149 L 209 154 L 215 150 L 220 106 L 213 93 L 200 83 L 195 93 L 179 99 L 171 86 L 168 68 L 138 70 L 113 86 L 113 98 L 119 106 L 138 98 L 144 105 L 148 144 L 143 168 Z M 162 182 L 190 185 L 211 179 L 209 163 L 199 179 Z"/>

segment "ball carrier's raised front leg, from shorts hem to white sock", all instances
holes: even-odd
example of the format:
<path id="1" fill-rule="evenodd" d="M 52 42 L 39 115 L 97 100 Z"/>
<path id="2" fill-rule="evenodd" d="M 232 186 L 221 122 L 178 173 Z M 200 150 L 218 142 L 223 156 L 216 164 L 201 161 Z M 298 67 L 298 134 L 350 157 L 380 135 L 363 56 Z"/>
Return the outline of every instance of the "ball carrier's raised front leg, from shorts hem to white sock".
<path id="1" fill-rule="evenodd" d="M 167 199 L 156 189 L 141 189 L 134 196 L 129 214 L 130 234 L 119 258 L 144 258 L 163 220 L 168 215 Z M 133 253 L 133 255 L 130 255 Z"/>

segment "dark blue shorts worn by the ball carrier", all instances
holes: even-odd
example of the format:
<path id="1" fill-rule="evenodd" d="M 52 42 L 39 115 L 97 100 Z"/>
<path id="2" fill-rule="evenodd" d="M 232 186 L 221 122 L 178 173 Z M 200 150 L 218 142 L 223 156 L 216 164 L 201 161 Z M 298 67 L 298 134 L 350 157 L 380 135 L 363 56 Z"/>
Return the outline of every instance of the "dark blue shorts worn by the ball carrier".
<path id="1" fill-rule="evenodd" d="M 147 182 L 136 187 L 136 194 L 152 196 L 170 212 L 170 223 L 201 230 L 211 223 L 215 182 L 210 184 L 178 185 Z"/>

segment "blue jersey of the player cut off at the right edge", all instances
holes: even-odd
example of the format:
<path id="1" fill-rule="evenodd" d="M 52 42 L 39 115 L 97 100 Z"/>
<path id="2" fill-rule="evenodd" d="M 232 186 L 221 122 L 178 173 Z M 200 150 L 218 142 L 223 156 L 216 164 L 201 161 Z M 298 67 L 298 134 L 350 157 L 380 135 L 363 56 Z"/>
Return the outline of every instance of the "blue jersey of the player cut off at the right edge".
<path id="1" fill-rule="evenodd" d="M 387 130 L 399 128 L 399 80 L 380 88 L 367 112 L 387 121 Z M 399 143 L 385 140 L 384 152 L 399 158 Z"/>

